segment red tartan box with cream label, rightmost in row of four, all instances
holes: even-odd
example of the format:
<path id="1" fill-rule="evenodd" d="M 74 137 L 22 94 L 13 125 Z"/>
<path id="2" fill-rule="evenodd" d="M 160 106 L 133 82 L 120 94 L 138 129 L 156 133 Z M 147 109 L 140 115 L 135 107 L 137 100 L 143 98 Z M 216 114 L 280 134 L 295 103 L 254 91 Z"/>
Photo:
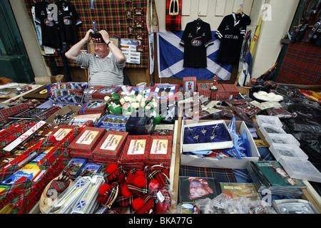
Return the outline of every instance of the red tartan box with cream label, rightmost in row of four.
<path id="1" fill-rule="evenodd" d="M 146 165 L 160 165 L 170 167 L 172 156 L 172 136 L 151 135 L 151 151 Z"/>

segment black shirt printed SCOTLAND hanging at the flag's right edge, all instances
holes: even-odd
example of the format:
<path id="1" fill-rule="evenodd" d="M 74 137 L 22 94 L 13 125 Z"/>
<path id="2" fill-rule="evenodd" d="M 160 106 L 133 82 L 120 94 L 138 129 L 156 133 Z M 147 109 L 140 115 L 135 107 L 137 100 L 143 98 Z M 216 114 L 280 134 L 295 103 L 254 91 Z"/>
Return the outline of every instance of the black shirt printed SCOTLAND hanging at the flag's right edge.
<path id="1" fill-rule="evenodd" d="M 246 27 L 250 23 L 250 16 L 246 14 L 233 13 L 224 17 L 215 33 L 220 39 L 218 63 L 235 64 L 239 61 Z"/>

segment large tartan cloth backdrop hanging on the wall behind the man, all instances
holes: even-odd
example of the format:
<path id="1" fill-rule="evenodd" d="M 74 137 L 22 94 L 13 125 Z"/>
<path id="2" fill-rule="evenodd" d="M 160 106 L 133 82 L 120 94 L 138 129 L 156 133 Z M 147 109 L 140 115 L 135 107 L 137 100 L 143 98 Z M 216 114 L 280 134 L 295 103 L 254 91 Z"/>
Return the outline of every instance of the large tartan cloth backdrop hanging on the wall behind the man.
<path id="1" fill-rule="evenodd" d="M 80 16 L 82 25 L 78 26 L 78 37 L 83 38 L 89 29 L 93 29 L 93 21 L 96 22 L 97 31 L 105 29 L 110 35 L 119 36 L 121 38 L 129 38 L 136 40 L 136 33 L 144 33 L 141 45 L 148 47 L 148 31 L 146 26 L 143 28 L 135 28 L 135 20 L 143 20 L 146 24 L 146 6 L 145 0 L 133 0 L 131 3 L 118 0 L 95 0 L 94 9 L 91 9 L 91 1 L 88 0 L 69 0 L 73 6 L 75 6 L 77 13 Z M 29 12 L 30 19 L 31 6 L 34 6 L 34 0 L 24 0 L 26 9 Z M 136 16 L 133 14 L 132 20 L 126 20 L 126 10 L 135 8 L 142 8 L 143 15 Z M 128 34 L 128 26 L 134 27 L 134 34 Z M 68 45 L 70 48 L 71 45 Z M 83 49 L 87 49 L 86 46 Z M 148 48 L 145 48 L 148 50 Z M 47 66 L 50 65 L 50 57 L 44 56 Z M 78 67 L 73 61 L 67 61 L 68 66 Z M 63 60 L 61 56 L 54 56 L 54 63 L 56 66 L 63 66 Z M 148 51 L 141 53 L 141 64 L 126 63 L 127 68 L 148 68 Z"/>

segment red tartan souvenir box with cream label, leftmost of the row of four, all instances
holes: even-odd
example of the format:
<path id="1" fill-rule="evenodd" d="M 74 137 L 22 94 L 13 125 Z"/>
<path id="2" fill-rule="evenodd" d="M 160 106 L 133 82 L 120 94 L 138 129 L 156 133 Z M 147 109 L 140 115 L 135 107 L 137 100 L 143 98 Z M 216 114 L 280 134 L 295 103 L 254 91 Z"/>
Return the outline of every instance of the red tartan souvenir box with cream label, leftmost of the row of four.
<path id="1" fill-rule="evenodd" d="M 103 128 L 85 127 L 71 142 L 67 150 L 71 157 L 84 157 L 93 160 L 92 152 L 105 134 Z"/>

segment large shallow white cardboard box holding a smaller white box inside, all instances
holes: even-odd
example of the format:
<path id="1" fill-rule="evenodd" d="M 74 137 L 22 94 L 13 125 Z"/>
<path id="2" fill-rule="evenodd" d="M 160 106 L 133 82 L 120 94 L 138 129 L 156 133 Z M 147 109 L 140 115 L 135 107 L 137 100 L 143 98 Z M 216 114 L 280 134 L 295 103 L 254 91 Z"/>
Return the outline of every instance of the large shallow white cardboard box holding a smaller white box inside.
<path id="1" fill-rule="evenodd" d="M 188 122 L 193 120 L 183 120 L 182 128 L 184 125 L 188 124 Z M 199 120 L 200 123 L 208 122 L 208 120 Z M 228 125 L 230 121 L 225 121 L 225 124 Z M 248 130 L 248 127 L 245 125 L 244 121 L 236 121 L 236 130 L 238 133 L 245 133 L 248 137 L 248 146 L 250 148 L 250 154 L 252 157 L 243 157 L 242 160 L 239 160 L 235 157 L 224 157 L 222 159 L 217 159 L 215 157 L 206 157 L 200 158 L 196 155 L 183 155 L 183 144 L 180 145 L 180 165 L 188 165 L 193 167 L 211 167 L 211 168 L 221 168 L 221 169 L 245 169 L 246 164 L 250 161 L 256 162 L 260 159 L 260 153 L 258 152 L 258 148 L 255 145 L 253 137 Z M 183 134 L 181 136 L 181 142 L 183 142 Z M 203 148 L 201 148 L 203 149 Z"/>

